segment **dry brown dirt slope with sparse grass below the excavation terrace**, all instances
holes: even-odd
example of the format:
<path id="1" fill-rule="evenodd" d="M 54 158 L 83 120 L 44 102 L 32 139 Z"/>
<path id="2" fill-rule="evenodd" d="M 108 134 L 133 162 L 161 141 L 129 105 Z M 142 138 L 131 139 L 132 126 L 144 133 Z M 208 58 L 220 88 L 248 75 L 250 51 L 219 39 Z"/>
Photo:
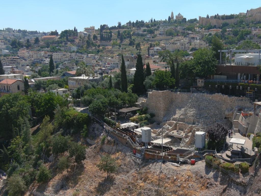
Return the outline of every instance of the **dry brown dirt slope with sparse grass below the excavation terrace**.
<path id="1" fill-rule="evenodd" d="M 96 144 L 88 145 L 85 142 L 88 148 L 86 149 L 86 159 L 82 164 L 72 164 L 69 171 L 58 172 L 54 169 L 57 160 L 54 159 L 53 162 L 47 164 L 50 169 L 53 169 L 54 177 L 46 184 L 33 184 L 26 195 L 247 195 L 245 187 L 236 185 L 221 172 L 209 169 L 202 161 L 195 165 L 182 165 L 181 167 L 158 161 L 144 161 L 141 165 L 137 164 L 130 155 L 131 149 L 121 143 L 115 143 L 110 137 L 105 144 L 107 148 L 118 145 L 116 152 L 109 151 L 117 160 L 118 170 L 107 178 L 106 173 L 99 171 L 96 167 L 101 155 L 105 154 L 104 146 L 100 145 L 101 133 L 105 133 L 103 130 L 97 131 L 97 128 L 97 126 L 93 127 L 96 136 L 92 138 Z M 257 190 L 253 189 L 253 191 L 258 193 Z M 254 192 L 252 193 L 251 190 L 248 195 L 259 195 Z"/>

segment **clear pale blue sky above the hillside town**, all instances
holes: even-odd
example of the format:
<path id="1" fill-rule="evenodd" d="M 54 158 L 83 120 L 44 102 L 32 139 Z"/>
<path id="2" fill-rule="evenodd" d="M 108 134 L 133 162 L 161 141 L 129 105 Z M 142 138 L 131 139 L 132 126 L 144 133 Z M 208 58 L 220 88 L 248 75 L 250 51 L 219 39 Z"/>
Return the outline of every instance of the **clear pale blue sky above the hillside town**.
<path id="1" fill-rule="evenodd" d="M 247 9 L 258 8 L 259 1 L 57 1 L 57 0 L 12 0 L 0 1 L 0 29 L 11 27 L 37 31 L 53 31 L 59 33 L 74 26 L 79 31 L 84 27 L 101 24 L 109 26 L 127 21 L 145 20 L 151 17 L 156 20 L 168 19 L 171 11 L 174 17 L 179 12 L 188 19 L 215 14 L 238 14 Z"/>

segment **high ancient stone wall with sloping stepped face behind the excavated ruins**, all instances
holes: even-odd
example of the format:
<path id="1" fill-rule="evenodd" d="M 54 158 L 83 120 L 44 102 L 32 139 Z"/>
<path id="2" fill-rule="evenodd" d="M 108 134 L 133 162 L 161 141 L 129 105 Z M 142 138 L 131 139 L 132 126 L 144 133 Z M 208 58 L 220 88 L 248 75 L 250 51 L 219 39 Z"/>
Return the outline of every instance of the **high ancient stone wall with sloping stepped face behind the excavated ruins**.
<path id="1" fill-rule="evenodd" d="M 198 125 L 206 130 L 216 123 L 221 123 L 228 128 L 232 123 L 225 119 L 226 111 L 233 110 L 236 106 L 251 108 L 250 99 L 245 97 L 229 97 L 222 94 L 203 93 L 173 93 L 170 91 L 152 91 L 143 106 L 155 114 L 155 120 L 163 121 L 163 117 L 171 110 L 184 108 L 182 116 L 185 123 Z"/>

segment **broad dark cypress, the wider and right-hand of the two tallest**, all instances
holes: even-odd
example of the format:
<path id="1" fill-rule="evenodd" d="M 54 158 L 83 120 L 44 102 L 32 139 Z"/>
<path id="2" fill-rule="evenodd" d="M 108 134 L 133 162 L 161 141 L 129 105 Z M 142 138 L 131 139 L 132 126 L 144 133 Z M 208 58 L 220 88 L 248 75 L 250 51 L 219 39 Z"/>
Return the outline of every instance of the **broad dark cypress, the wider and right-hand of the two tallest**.
<path id="1" fill-rule="evenodd" d="M 138 54 L 138 59 L 136 63 L 136 71 L 134 74 L 133 84 L 134 92 L 138 95 L 143 94 L 143 82 L 144 82 L 144 70 L 141 55 Z"/>

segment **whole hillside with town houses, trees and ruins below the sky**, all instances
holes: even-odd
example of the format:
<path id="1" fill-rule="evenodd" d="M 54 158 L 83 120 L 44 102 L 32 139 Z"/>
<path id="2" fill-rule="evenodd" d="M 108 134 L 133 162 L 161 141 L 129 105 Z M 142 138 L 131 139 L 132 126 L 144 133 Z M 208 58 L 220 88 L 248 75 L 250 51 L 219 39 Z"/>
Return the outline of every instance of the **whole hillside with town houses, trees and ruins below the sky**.
<path id="1" fill-rule="evenodd" d="M 0 195 L 261 194 L 261 7 L 164 18 L 0 30 Z"/>

